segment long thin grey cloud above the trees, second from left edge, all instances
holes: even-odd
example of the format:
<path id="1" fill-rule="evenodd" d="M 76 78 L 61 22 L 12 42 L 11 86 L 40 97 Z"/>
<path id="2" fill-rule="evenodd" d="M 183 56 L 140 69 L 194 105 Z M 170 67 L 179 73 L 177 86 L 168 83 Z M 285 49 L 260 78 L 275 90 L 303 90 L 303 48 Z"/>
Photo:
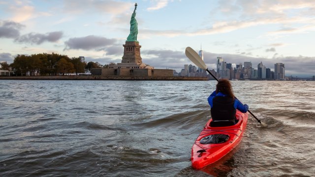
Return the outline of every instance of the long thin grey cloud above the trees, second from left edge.
<path id="1" fill-rule="evenodd" d="M 31 44 L 41 44 L 43 42 L 56 42 L 59 39 L 61 39 L 63 36 L 62 31 L 54 31 L 54 32 L 47 32 L 46 34 L 40 34 L 40 33 L 28 33 L 24 34 L 17 39 L 15 39 L 15 42 L 19 43 L 31 43 Z"/>

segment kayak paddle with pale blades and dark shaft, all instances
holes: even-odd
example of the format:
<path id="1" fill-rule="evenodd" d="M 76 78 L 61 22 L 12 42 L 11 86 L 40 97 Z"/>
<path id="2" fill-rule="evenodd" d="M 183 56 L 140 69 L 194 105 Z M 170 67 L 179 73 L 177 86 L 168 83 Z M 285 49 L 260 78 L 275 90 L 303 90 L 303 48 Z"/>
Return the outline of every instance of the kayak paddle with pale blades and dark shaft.
<path id="1" fill-rule="evenodd" d="M 200 58 L 200 56 L 197 54 L 196 51 L 194 51 L 193 49 L 191 49 L 191 47 L 187 47 L 185 50 L 185 54 L 186 56 L 195 64 L 197 65 L 199 68 L 204 69 L 206 71 L 208 71 L 208 73 L 215 78 L 218 82 L 218 78 L 216 78 L 216 76 L 214 76 L 207 68 L 207 65 L 205 64 L 205 62 Z M 235 99 L 237 99 L 235 97 Z M 248 110 L 248 112 L 252 115 L 252 117 L 254 117 L 259 123 L 261 127 L 266 127 L 268 126 L 268 124 L 261 122 L 260 119 L 256 118 L 255 115 L 252 114 L 252 112 L 250 110 Z"/>

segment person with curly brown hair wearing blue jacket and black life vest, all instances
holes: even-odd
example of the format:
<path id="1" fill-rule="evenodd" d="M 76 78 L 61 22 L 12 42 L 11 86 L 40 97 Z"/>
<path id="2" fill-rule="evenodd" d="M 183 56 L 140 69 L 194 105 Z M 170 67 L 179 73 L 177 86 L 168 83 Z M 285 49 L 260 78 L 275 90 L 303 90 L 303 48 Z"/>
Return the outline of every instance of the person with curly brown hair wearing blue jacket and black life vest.
<path id="1" fill-rule="evenodd" d="M 232 85 L 227 79 L 219 80 L 216 90 L 208 97 L 208 103 L 211 107 L 212 120 L 220 122 L 218 126 L 234 125 L 238 121 L 235 119 L 236 109 L 242 113 L 249 109 L 247 104 L 243 105 L 241 101 L 235 99 Z"/>

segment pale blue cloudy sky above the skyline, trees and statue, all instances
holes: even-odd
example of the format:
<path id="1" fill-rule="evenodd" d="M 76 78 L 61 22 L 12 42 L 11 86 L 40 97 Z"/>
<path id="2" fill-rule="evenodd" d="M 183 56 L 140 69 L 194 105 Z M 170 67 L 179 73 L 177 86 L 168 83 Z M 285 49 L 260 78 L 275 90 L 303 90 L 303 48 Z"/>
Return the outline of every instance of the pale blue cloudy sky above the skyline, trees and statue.
<path id="1" fill-rule="evenodd" d="M 0 61 L 54 52 L 120 63 L 135 2 L 142 61 L 155 68 L 194 65 L 189 46 L 209 70 L 222 57 L 315 75 L 315 0 L 0 0 Z"/>

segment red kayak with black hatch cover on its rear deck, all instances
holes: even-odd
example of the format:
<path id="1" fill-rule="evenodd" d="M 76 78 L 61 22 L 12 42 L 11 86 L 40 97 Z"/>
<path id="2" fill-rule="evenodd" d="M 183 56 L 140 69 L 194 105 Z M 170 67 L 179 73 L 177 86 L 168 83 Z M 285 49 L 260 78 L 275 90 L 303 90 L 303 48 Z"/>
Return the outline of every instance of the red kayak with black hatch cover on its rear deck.
<path id="1" fill-rule="evenodd" d="M 231 126 L 220 126 L 222 121 L 212 119 L 207 122 L 191 148 L 192 168 L 201 169 L 216 162 L 240 143 L 248 114 L 236 110 L 236 117 L 239 121 Z"/>

